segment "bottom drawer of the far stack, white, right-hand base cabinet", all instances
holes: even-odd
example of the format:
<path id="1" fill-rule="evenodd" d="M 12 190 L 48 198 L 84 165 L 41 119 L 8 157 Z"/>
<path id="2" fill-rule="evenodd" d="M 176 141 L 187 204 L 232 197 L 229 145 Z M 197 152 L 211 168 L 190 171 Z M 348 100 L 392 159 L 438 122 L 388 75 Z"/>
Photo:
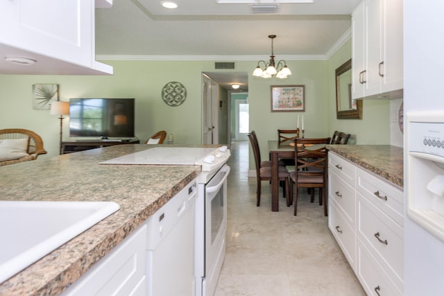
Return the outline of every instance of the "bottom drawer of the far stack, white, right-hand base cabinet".
<path id="1" fill-rule="evenodd" d="M 328 203 L 328 228 L 336 238 L 339 247 L 347 258 L 353 270 L 356 268 L 356 234 L 355 231 L 345 223 L 345 218 L 340 214 L 334 200 Z"/>

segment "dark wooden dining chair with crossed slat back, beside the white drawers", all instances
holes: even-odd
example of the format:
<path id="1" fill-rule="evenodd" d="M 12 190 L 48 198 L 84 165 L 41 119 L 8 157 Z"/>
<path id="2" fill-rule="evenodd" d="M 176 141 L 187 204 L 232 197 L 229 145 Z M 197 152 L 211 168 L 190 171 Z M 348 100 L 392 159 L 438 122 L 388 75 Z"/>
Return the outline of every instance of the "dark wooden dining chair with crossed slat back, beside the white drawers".
<path id="1" fill-rule="evenodd" d="M 327 216 L 327 149 L 329 138 L 294 139 L 295 171 L 290 173 L 290 204 L 294 202 L 294 216 L 298 211 L 298 188 L 319 189 L 319 205 L 324 205 Z M 293 185 L 294 184 L 294 185 Z M 294 190 L 293 190 L 294 186 Z"/>

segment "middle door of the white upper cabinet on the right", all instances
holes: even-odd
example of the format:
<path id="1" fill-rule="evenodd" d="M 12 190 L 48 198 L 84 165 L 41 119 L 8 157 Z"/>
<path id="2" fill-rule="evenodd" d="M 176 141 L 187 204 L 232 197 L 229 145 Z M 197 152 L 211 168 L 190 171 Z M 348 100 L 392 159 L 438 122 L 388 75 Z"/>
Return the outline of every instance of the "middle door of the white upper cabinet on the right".
<path id="1" fill-rule="evenodd" d="M 379 63 L 381 62 L 381 5 L 379 0 L 366 1 L 366 83 L 364 96 L 381 92 Z"/>

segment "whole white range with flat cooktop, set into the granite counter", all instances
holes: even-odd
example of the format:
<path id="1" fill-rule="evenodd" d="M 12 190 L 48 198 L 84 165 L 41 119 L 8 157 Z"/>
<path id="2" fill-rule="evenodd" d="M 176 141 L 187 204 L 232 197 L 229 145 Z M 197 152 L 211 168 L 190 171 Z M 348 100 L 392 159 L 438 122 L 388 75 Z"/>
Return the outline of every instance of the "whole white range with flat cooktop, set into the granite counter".
<path id="1" fill-rule="evenodd" d="M 225 259 L 227 177 L 230 173 L 230 166 L 226 163 L 230 156 L 230 150 L 226 146 L 208 148 L 160 145 L 101 162 L 101 164 L 202 166 L 202 172 L 196 178 L 197 199 L 194 216 L 193 286 L 196 287 L 196 296 L 214 294 Z"/>

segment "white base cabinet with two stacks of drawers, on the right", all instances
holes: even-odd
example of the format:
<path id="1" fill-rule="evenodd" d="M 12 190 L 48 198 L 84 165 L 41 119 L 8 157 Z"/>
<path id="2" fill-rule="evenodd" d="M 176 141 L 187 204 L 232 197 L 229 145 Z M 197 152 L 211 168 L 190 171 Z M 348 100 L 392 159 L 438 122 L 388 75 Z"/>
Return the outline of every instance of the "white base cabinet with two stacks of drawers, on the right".
<path id="1" fill-rule="evenodd" d="M 330 231 L 368 295 L 402 295 L 402 190 L 350 164 L 329 153 Z M 347 168 L 345 177 L 338 167 Z"/>

